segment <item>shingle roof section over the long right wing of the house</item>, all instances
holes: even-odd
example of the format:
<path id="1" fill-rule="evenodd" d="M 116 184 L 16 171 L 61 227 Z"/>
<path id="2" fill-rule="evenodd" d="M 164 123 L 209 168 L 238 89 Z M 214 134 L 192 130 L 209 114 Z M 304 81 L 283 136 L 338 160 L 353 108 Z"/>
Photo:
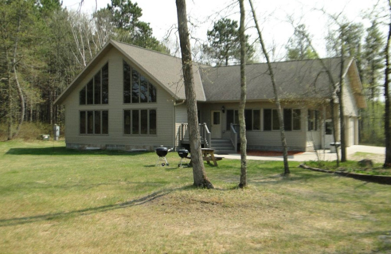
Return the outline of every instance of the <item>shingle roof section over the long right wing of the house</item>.
<path id="1" fill-rule="evenodd" d="M 340 59 L 324 59 L 335 83 L 339 82 Z M 348 65 L 349 61 L 346 61 Z M 240 66 L 202 68 L 207 101 L 239 101 Z M 281 99 L 325 98 L 331 94 L 329 78 L 320 60 L 272 63 Z M 267 63 L 246 65 L 247 100 L 274 99 Z"/>

